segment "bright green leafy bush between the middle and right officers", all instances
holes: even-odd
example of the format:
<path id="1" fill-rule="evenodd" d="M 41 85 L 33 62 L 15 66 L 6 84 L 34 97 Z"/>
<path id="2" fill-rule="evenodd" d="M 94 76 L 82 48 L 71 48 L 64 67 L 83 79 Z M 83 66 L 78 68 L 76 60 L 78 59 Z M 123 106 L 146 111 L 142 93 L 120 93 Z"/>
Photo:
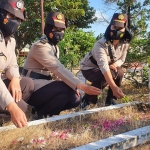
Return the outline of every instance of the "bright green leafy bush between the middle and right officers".
<path id="1" fill-rule="evenodd" d="M 59 43 L 60 61 L 70 70 L 78 67 L 79 61 L 92 49 L 95 41 L 91 32 L 67 29 L 64 39 Z"/>

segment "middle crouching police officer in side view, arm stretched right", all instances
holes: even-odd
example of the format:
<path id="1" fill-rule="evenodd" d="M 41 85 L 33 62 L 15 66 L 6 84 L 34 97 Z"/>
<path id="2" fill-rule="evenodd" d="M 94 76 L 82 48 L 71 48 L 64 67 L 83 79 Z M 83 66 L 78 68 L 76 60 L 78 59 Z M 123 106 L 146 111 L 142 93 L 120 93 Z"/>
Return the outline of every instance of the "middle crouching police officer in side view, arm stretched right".
<path id="1" fill-rule="evenodd" d="M 60 12 L 48 14 L 45 23 L 45 37 L 34 43 L 28 53 L 22 74 L 33 78 L 35 92 L 28 103 L 37 110 L 38 118 L 58 115 L 62 110 L 80 104 L 76 90 L 98 95 L 100 90 L 82 83 L 59 61 L 57 43 L 64 37 L 65 18 Z M 61 81 L 51 80 L 55 74 Z"/>

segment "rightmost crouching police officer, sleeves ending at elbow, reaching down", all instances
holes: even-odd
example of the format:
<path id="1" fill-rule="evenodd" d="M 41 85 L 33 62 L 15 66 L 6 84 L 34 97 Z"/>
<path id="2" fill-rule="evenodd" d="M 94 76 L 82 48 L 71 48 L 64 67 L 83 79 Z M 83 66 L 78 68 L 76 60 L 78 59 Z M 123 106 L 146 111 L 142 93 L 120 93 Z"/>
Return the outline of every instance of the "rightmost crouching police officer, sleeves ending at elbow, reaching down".
<path id="1" fill-rule="evenodd" d="M 104 89 L 109 85 L 105 105 L 115 105 L 114 99 L 125 95 L 119 88 L 123 78 L 121 65 L 126 59 L 131 41 L 126 14 L 115 13 L 104 36 L 98 40 L 91 52 L 80 62 L 83 76 L 93 86 Z M 97 103 L 97 96 L 85 94 L 82 107 Z"/>

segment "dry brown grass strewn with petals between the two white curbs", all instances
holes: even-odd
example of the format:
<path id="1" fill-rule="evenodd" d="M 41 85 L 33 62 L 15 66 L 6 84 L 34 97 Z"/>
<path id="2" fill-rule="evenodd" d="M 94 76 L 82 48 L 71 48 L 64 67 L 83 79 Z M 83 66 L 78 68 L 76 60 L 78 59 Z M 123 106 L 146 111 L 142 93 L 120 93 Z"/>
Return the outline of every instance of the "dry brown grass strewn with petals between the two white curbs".
<path id="1" fill-rule="evenodd" d="M 100 111 L 96 114 L 82 116 L 81 118 L 76 117 L 71 120 L 1 132 L 0 139 L 3 140 L 0 141 L 0 149 L 16 150 L 29 148 L 31 150 L 38 150 L 44 145 L 44 142 L 33 143 L 32 139 L 39 140 L 40 137 L 44 137 L 46 142 L 44 150 L 67 150 L 150 123 L 149 120 L 137 120 L 135 118 L 137 113 L 136 108 L 124 107 L 118 110 Z M 144 115 L 150 115 L 150 111 Z M 126 116 L 126 121 L 122 126 L 118 126 L 116 129 L 112 128 L 111 130 L 103 127 L 104 122 L 109 120 L 113 122 L 124 116 Z M 97 127 L 91 129 L 95 123 L 98 124 Z M 54 133 L 57 133 L 57 135 L 54 136 Z M 67 134 L 65 140 L 60 138 L 63 134 Z M 24 139 L 22 140 L 22 138 Z"/>

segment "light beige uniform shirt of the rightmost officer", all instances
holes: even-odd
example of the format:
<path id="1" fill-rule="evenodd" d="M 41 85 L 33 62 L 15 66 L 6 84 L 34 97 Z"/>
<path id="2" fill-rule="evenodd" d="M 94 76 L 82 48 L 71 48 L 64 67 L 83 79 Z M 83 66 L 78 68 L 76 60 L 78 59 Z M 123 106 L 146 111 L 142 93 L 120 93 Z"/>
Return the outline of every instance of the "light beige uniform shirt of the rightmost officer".
<path id="1" fill-rule="evenodd" d="M 112 55 L 113 55 L 115 64 L 117 64 L 117 66 L 121 66 L 125 62 L 128 47 L 129 47 L 129 43 L 123 43 L 123 42 L 118 43 L 116 49 L 114 49 L 114 47 L 112 46 Z M 103 74 L 106 71 L 110 70 L 109 63 L 111 61 L 110 61 L 110 56 L 108 52 L 108 44 L 106 44 L 105 37 L 102 37 L 99 41 L 97 41 L 91 53 L 88 53 L 81 60 L 80 62 L 81 70 L 88 70 L 88 69 L 93 69 L 97 67 L 91 62 L 90 60 L 91 56 L 93 56 L 93 58 L 97 61 L 97 64 Z"/>

